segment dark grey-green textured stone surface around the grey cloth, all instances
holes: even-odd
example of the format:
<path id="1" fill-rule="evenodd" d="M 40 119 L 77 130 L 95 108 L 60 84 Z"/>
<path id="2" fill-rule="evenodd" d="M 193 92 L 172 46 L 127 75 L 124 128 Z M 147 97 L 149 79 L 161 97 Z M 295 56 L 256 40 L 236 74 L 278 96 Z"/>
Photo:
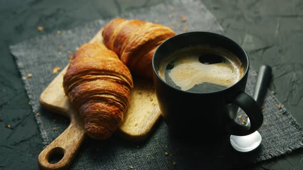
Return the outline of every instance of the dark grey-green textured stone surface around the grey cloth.
<path id="1" fill-rule="evenodd" d="M 207 0 L 203 3 L 217 17 L 226 35 L 248 51 L 254 68 L 262 63 L 273 67 L 271 90 L 302 125 L 303 2 Z M 151 4 L 157 1 L 0 1 L 0 169 L 36 169 L 37 156 L 43 148 L 8 46 Z M 37 31 L 37 26 L 43 26 L 44 31 Z M 303 169 L 302 157 L 303 151 L 297 150 L 251 168 Z"/>

